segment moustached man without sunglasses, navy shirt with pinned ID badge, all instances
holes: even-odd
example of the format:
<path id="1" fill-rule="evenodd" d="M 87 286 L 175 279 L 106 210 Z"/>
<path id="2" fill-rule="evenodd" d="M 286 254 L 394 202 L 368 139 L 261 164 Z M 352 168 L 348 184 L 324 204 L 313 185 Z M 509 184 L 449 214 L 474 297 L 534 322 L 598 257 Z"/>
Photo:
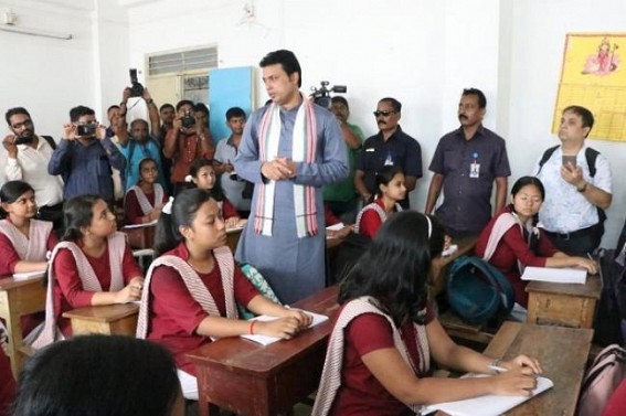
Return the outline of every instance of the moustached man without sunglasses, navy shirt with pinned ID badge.
<path id="1" fill-rule="evenodd" d="M 435 215 L 452 237 L 478 235 L 491 218 L 491 191 L 496 181 L 496 210 L 507 198 L 511 174 L 505 139 L 482 126 L 487 98 L 480 89 L 464 89 L 458 104 L 460 127 L 441 138 L 428 168 L 433 173 L 425 213 L 431 214 L 444 190 Z"/>

